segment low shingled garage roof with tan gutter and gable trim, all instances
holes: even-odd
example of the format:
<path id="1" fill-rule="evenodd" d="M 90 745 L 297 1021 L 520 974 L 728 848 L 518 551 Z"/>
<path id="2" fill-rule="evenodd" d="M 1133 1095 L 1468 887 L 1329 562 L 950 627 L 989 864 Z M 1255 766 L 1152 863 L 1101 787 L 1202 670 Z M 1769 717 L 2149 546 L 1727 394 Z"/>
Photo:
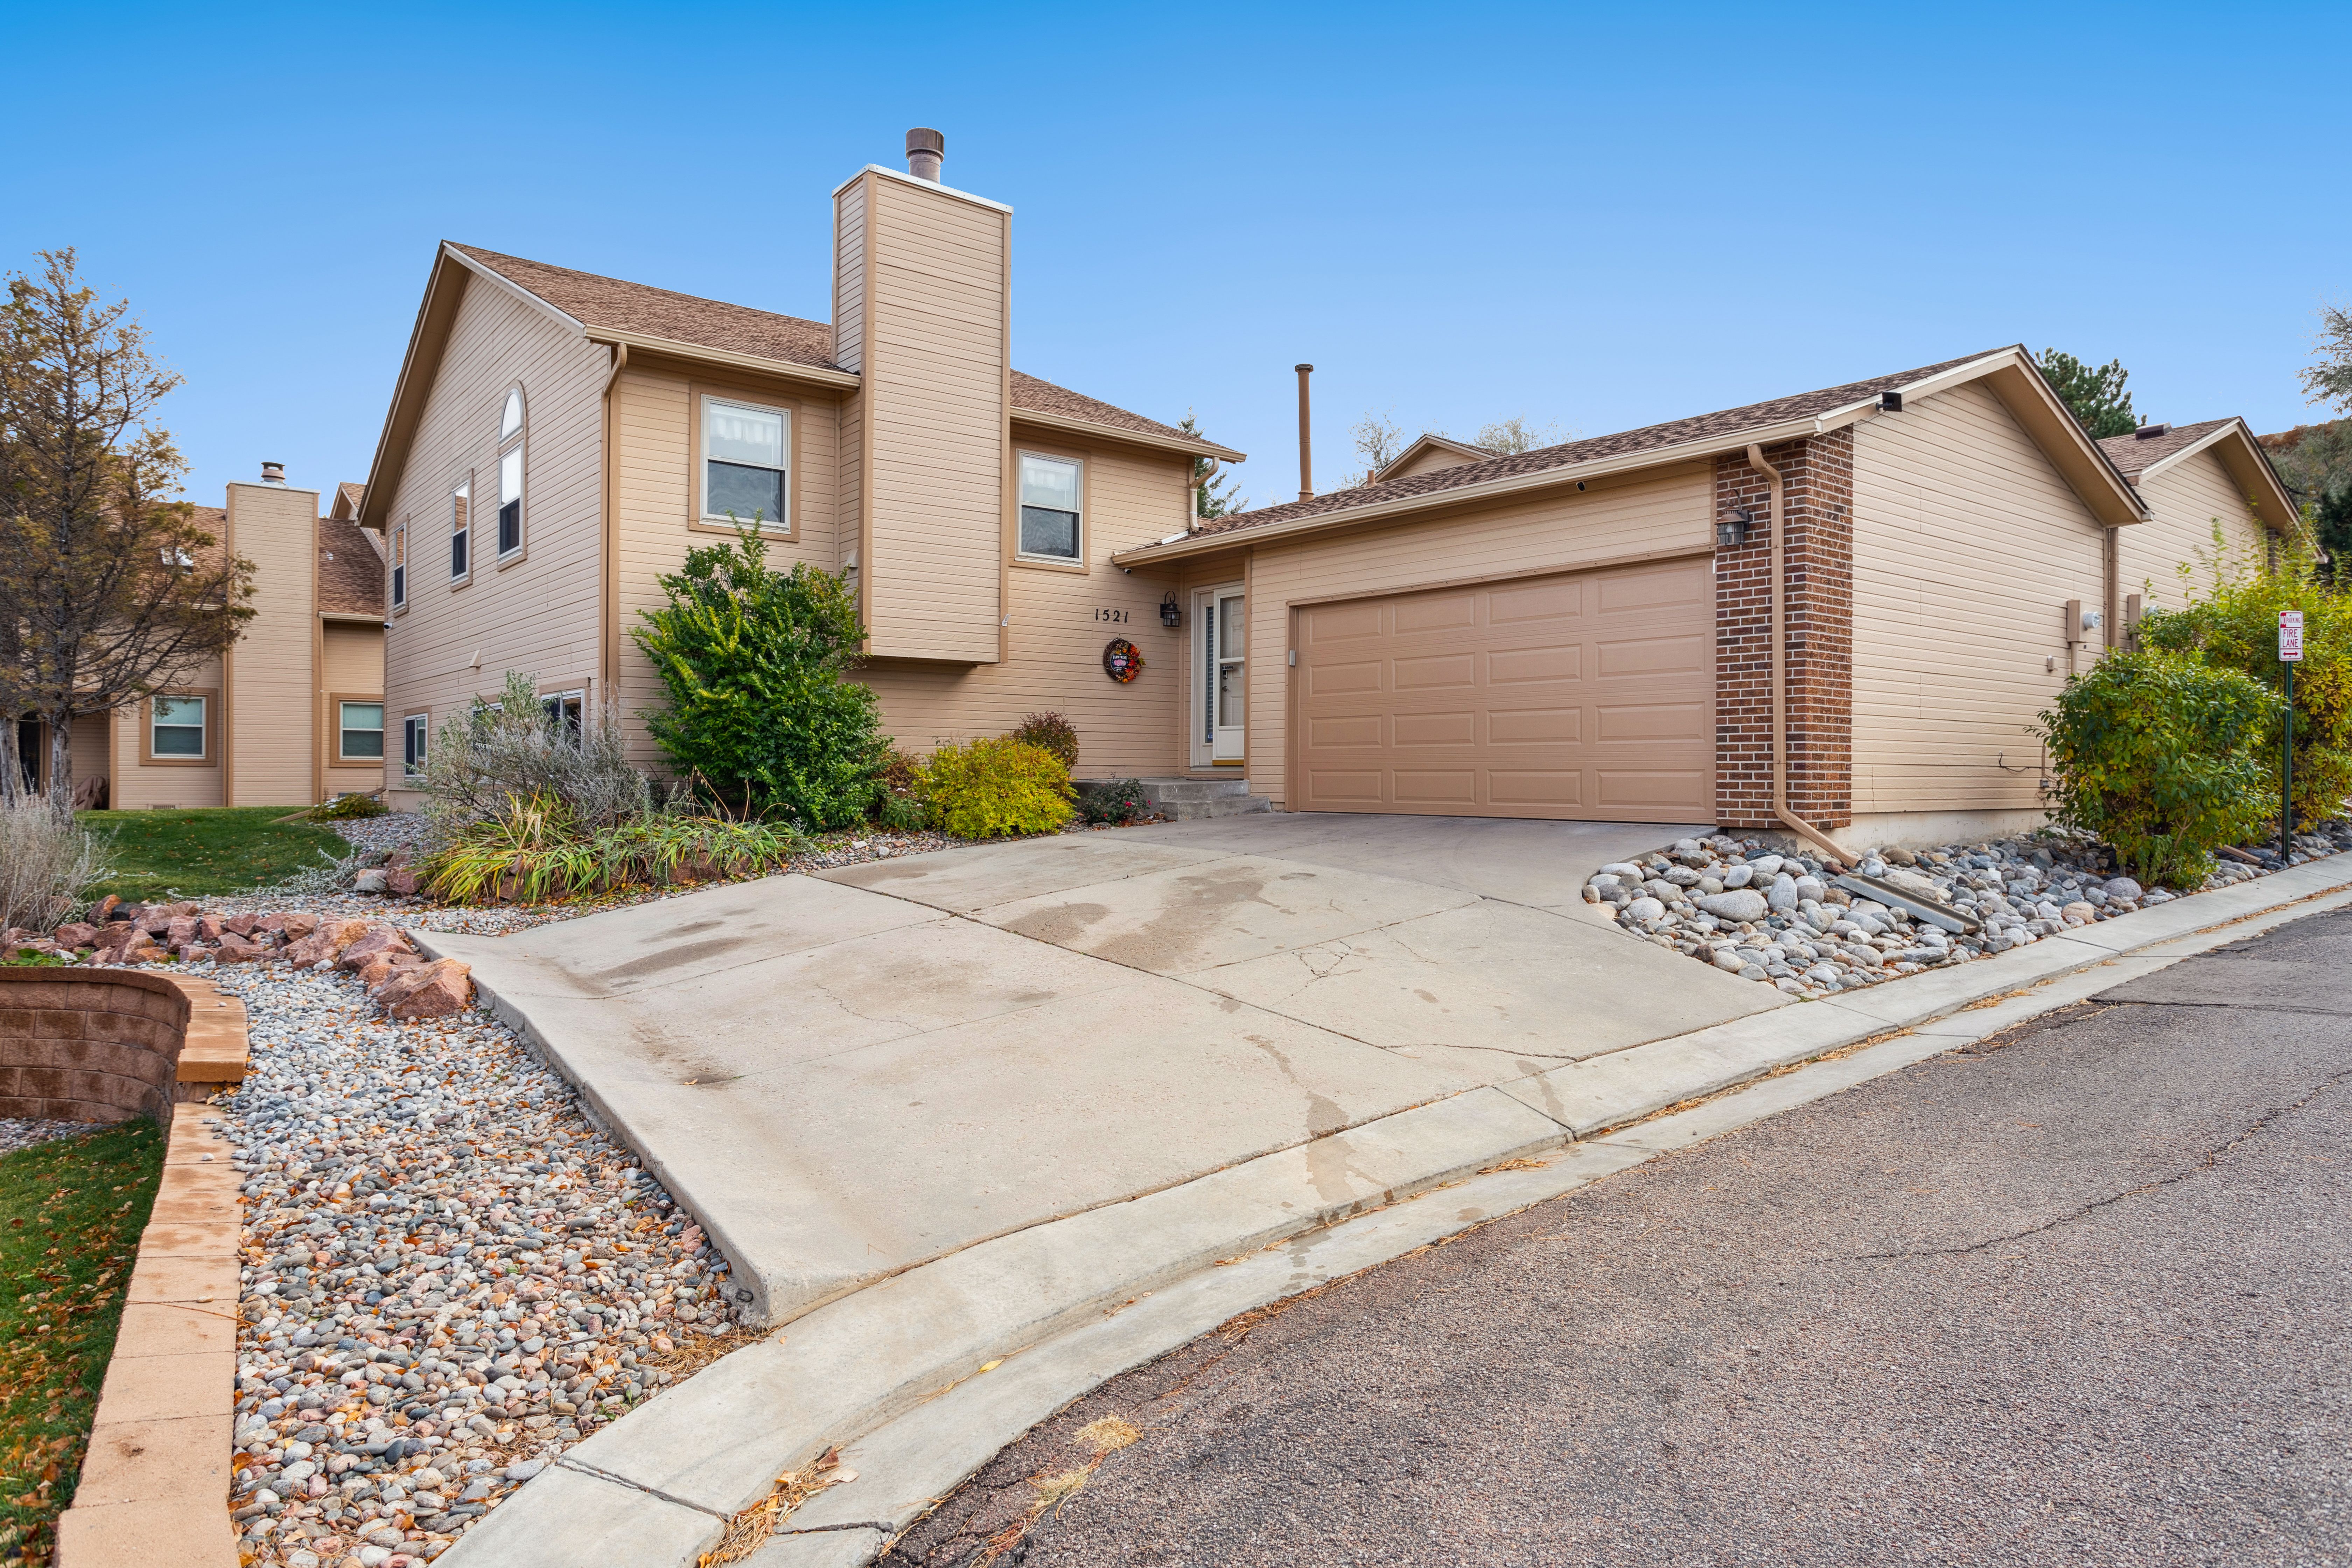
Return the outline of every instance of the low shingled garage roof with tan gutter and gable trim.
<path id="1" fill-rule="evenodd" d="M 1190 534 L 1171 534 L 1157 545 L 1112 555 L 1112 562 L 1124 567 L 1169 555 L 1195 555 L 1209 548 L 1244 543 L 1235 536 L 1256 529 L 1296 534 L 1322 524 L 1371 522 L 1479 501 L 1494 494 L 1566 484 L 1597 473 L 1686 463 L 1748 444 L 1820 435 L 1875 416 L 1882 393 L 1924 397 L 1966 381 L 1990 381 L 1994 386 L 2002 402 L 2027 423 L 2037 444 L 2051 454 L 2058 470 L 2103 522 L 2140 522 L 2147 515 L 2124 475 L 2114 470 L 2114 463 L 2082 433 L 2082 425 L 2065 411 L 2058 395 L 2049 390 L 2049 383 L 2032 367 L 2025 346 L 2013 343 L 1964 360 L 1943 360 L 1867 381 L 1846 381 L 1813 393 L 1750 402 L 1738 409 L 1696 414 L 1691 418 L 1618 430 L 1616 435 L 1595 435 L 1557 447 L 1536 447 L 1534 451 L 1512 451 L 1399 480 L 1374 480 L 1355 489 L 1327 491 L 1254 512 L 1232 512 L 1200 524 Z"/>

